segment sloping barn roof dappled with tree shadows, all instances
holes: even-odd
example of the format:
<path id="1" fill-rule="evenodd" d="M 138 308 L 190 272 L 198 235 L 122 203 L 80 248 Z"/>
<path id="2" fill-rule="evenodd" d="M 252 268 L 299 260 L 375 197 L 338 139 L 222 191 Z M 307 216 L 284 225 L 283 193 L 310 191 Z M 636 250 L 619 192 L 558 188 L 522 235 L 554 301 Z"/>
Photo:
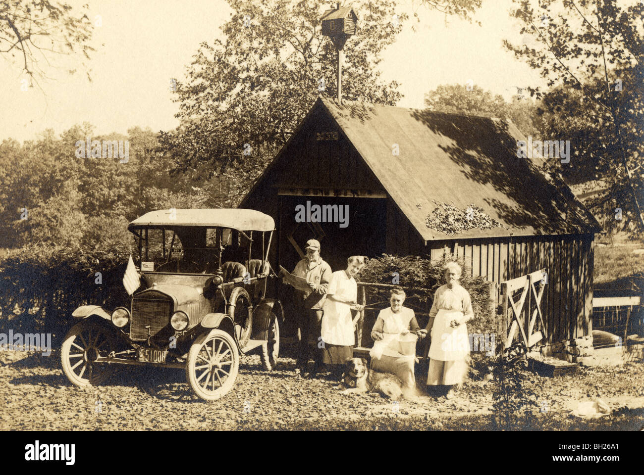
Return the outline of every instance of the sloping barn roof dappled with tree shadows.
<path id="1" fill-rule="evenodd" d="M 337 122 L 424 241 L 601 230 L 567 186 L 558 189 L 538 170 L 544 159 L 516 156 L 516 142 L 526 138 L 511 122 L 363 102 L 338 105 L 323 97 L 310 112 L 317 107 Z M 432 230 L 426 218 L 436 201 L 460 209 L 481 207 L 505 228 L 452 235 Z"/>

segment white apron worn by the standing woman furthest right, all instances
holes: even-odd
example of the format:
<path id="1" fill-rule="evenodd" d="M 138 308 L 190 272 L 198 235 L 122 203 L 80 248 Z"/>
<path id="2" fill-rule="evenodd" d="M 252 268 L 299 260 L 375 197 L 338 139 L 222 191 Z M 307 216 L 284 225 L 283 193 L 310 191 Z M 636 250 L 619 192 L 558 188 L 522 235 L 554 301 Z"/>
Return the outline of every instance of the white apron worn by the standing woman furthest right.
<path id="1" fill-rule="evenodd" d="M 431 327 L 430 359 L 457 361 L 466 358 L 469 354 L 468 326 L 450 326 L 452 320 L 462 317 L 463 312 L 459 310 L 439 310 Z"/>

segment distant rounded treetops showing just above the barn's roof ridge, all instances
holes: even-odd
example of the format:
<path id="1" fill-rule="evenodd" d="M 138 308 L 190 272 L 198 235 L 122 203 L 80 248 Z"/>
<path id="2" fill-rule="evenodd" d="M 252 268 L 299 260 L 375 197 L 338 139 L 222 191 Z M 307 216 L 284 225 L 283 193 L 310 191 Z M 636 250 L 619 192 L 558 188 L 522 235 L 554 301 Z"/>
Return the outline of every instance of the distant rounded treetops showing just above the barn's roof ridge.
<path id="1" fill-rule="evenodd" d="M 425 105 L 432 111 L 455 114 L 484 115 L 511 120 L 528 136 L 537 136 L 537 104 L 529 98 L 515 96 L 511 103 L 500 95 L 492 95 L 479 86 L 444 84 L 425 95 Z"/>

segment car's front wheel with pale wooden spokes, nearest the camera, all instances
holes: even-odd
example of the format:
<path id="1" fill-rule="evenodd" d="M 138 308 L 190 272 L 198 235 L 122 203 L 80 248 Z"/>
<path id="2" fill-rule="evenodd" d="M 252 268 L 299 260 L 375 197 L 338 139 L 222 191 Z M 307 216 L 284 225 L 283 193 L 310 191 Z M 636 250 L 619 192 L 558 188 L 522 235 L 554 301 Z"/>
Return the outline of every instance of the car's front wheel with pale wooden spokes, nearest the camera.
<path id="1" fill-rule="evenodd" d="M 185 375 L 195 395 L 214 401 L 232 389 L 239 364 L 239 353 L 231 335 L 215 329 L 194 340 Z"/>

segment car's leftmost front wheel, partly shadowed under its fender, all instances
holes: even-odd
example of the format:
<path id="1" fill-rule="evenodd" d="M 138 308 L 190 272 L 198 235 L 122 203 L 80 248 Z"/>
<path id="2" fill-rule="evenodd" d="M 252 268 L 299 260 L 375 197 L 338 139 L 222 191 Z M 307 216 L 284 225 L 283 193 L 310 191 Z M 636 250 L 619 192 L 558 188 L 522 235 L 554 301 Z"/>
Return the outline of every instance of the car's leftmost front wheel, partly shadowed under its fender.
<path id="1" fill-rule="evenodd" d="M 104 325 L 83 320 L 65 335 L 61 348 L 62 371 L 76 386 L 98 386 L 111 375 L 108 363 L 97 363 L 108 356 L 113 347 L 113 335 Z"/>

